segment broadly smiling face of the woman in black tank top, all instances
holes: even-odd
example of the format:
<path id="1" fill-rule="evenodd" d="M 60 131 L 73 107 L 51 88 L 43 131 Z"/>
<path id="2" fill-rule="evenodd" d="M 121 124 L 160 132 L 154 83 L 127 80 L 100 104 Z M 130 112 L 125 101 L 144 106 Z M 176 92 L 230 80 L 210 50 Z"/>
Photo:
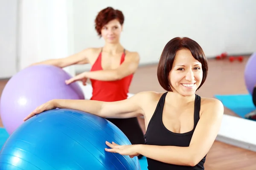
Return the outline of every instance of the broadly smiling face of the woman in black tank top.
<path id="1" fill-rule="evenodd" d="M 192 96 L 203 79 L 202 65 L 188 49 L 181 49 L 175 55 L 168 78 L 174 92 Z"/>

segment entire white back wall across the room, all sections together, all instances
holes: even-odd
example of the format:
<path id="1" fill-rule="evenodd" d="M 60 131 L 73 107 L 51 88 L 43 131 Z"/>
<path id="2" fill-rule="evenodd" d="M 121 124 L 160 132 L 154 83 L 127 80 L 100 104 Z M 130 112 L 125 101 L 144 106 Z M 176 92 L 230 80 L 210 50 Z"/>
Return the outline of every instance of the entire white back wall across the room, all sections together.
<path id="1" fill-rule="evenodd" d="M 125 25 L 121 42 L 128 50 L 140 53 L 141 65 L 157 63 L 164 45 L 176 36 L 196 40 L 207 57 L 223 51 L 230 54 L 256 51 L 255 0 L 232 0 L 232 3 L 230 0 L 151 0 L 146 3 L 135 0 L 125 3 L 119 0 L 19 0 L 17 27 L 13 4 L 17 4 L 17 0 L 3 2 L 1 23 L 6 23 L 6 27 L 0 28 L 3 30 L 0 31 L 0 77 L 15 73 L 16 52 L 17 70 L 20 70 L 33 62 L 102 46 L 104 41 L 97 37 L 94 19 L 107 6 L 123 11 Z M 3 62 L 3 58 L 9 63 Z M 88 68 L 90 65 L 79 65 L 76 71 Z M 73 74 L 74 69 L 66 70 Z"/>

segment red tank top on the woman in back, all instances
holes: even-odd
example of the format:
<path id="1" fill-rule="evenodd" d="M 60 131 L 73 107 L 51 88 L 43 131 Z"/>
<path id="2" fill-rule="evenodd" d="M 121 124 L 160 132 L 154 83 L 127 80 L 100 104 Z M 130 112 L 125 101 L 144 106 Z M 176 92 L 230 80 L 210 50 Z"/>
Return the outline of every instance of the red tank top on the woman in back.
<path id="1" fill-rule="evenodd" d="M 125 50 L 122 54 L 120 64 L 125 60 Z M 102 51 L 99 54 L 99 57 L 96 59 L 93 64 L 91 71 L 102 70 Z M 131 84 L 133 74 L 128 75 L 120 80 L 116 81 L 99 81 L 96 79 L 90 79 L 93 94 L 91 100 L 98 100 L 103 102 L 115 102 L 119 100 L 127 99 L 128 91 Z"/>

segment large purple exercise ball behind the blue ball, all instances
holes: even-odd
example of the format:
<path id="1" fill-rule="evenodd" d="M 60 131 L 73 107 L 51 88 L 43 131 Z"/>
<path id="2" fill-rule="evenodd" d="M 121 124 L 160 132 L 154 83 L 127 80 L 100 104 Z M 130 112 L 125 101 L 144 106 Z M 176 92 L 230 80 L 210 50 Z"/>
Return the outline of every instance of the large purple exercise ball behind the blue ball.
<path id="1" fill-rule="evenodd" d="M 52 65 L 34 65 L 15 74 L 0 99 L 3 126 L 11 134 L 35 108 L 52 99 L 84 99 L 78 83 L 66 85 L 71 76 Z"/>

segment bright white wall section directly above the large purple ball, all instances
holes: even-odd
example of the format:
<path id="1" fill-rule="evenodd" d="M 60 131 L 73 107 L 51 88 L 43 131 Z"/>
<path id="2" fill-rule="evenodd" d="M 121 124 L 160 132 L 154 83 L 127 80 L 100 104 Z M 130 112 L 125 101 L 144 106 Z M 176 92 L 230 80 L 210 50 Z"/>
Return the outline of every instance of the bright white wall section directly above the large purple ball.
<path id="1" fill-rule="evenodd" d="M 19 70 L 73 54 L 72 0 L 22 0 L 19 9 Z"/>

